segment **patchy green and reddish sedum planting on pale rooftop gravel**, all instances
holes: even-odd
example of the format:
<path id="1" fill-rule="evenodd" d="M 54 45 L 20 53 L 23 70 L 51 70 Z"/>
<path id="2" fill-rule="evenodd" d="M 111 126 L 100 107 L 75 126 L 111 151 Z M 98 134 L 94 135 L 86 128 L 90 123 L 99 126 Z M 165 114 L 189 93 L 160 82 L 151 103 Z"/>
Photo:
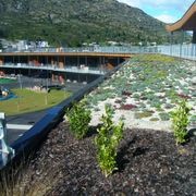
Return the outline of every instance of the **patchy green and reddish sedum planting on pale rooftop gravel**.
<path id="1" fill-rule="evenodd" d="M 194 68 L 192 61 L 168 56 L 135 56 L 87 96 L 89 107 L 94 110 L 107 101 L 112 102 L 115 112 L 128 109 L 137 120 L 167 122 L 170 111 L 185 98 L 193 107 L 191 115 L 195 117 Z M 191 121 L 194 123 L 195 118 Z"/>

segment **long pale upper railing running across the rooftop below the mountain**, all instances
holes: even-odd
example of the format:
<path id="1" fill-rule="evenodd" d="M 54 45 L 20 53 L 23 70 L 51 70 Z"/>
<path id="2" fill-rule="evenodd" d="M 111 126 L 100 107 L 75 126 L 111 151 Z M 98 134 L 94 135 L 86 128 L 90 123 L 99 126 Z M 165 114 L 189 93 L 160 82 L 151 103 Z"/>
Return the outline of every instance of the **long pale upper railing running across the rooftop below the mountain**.
<path id="1" fill-rule="evenodd" d="M 181 51 L 182 50 L 182 51 Z M 176 52 L 177 51 L 177 52 Z M 112 47 L 83 47 L 83 48 L 35 48 L 32 50 L 7 49 L 0 56 L 103 56 L 115 54 L 131 57 L 137 53 L 162 53 L 180 58 L 195 59 L 196 47 L 194 44 L 161 45 L 161 46 L 112 46 Z M 187 53 L 187 54 L 186 54 Z M 181 57 L 182 54 L 182 57 Z M 183 57 L 184 56 L 184 57 Z"/>

